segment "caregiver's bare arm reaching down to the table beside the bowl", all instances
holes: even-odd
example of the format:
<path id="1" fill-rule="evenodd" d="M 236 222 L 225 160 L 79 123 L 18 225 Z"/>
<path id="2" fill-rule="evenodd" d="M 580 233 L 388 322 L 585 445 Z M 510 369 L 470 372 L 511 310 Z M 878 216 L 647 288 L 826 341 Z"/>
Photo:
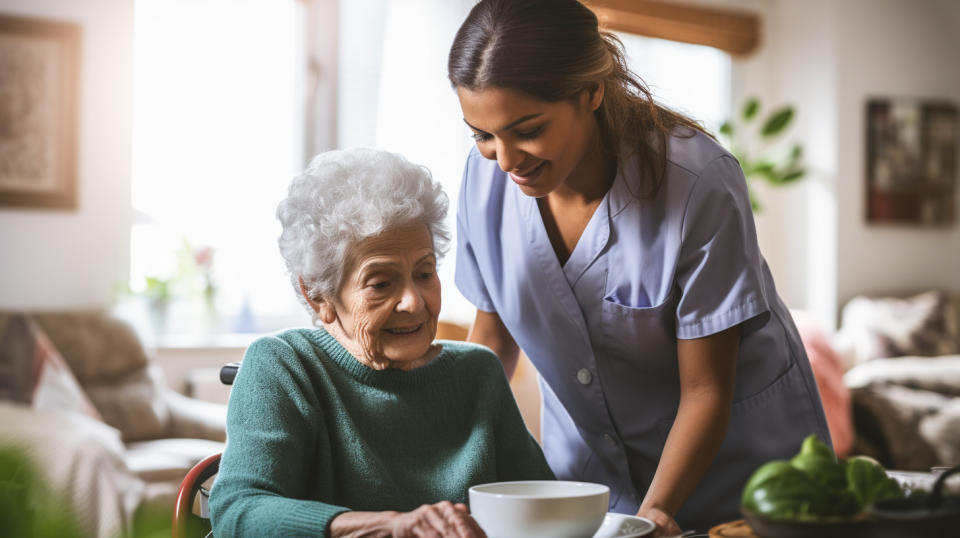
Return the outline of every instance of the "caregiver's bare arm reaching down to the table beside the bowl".
<path id="1" fill-rule="evenodd" d="M 660 526 L 673 518 L 713 463 L 730 422 L 740 326 L 677 341 L 680 406 L 639 515 Z M 679 529 L 675 529 L 679 530 Z"/>

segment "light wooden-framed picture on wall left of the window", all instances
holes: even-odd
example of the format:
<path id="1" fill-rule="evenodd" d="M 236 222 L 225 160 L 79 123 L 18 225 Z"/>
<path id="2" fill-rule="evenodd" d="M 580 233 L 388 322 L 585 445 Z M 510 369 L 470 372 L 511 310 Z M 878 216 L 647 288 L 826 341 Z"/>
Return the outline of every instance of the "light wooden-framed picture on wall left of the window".
<path id="1" fill-rule="evenodd" d="M 0 208 L 77 206 L 80 27 L 0 15 Z"/>

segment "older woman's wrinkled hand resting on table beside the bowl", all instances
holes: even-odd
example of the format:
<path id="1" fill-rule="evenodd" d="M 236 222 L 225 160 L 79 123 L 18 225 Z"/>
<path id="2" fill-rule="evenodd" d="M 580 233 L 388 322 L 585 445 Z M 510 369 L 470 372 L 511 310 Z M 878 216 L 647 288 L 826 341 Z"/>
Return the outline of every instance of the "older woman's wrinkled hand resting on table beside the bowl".
<path id="1" fill-rule="evenodd" d="M 411 512 L 344 512 L 330 522 L 335 537 L 486 538 L 466 505 L 442 501 Z"/>

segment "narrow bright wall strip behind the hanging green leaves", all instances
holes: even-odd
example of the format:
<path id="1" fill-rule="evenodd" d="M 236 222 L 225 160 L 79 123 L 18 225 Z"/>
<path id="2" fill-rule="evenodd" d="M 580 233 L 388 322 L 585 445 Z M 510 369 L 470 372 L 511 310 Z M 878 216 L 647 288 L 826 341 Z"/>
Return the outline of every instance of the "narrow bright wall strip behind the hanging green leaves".
<path id="1" fill-rule="evenodd" d="M 779 260 L 780 269 L 793 284 L 788 304 L 813 312 L 828 326 L 835 323 L 838 263 L 835 4 L 790 1 L 770 20 L 779 36 L 771 39 L 776 45 L 777 90 L 785 102 L 799 106 L 794 134 L 803 141 L 807 166 L 801 183 L 778 189 L 779 197 L 771 200 L 781 223 L 797 224 L 795 234 L 779 235 L 780 244 L 797 246 L 792 256 Z"/>

